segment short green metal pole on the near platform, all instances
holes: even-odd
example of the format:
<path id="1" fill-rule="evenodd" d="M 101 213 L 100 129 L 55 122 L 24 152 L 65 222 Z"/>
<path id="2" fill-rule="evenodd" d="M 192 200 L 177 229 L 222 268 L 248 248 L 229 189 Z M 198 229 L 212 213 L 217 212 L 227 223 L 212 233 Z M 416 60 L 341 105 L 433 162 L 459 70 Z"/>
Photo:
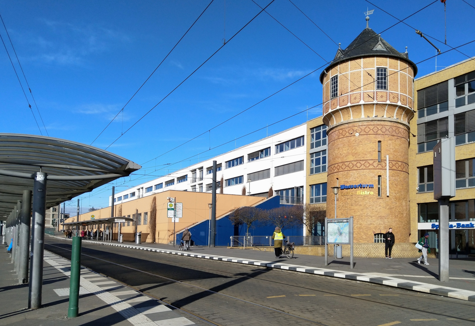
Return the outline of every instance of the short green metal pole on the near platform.
<path id="1" fill-rule="evenodd" d="M 79 277 L 81 274 L 81 237 L 73 236 L 71 248 L 71 281 L 69 283 L 69 308 L 67 317 L 77 317 L 79 311 Z"/>

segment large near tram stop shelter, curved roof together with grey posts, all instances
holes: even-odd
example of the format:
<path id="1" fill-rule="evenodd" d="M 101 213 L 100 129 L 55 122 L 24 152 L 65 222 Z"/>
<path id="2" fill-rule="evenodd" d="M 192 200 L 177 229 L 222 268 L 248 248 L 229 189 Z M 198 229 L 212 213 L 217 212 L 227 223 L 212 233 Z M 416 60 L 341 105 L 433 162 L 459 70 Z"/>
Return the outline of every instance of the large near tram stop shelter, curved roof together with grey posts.
<path id="1" fill-rule="evenodd" d="M 7 221 L 6 239 L 13 244 L 11 259 L 20 283 L 28 282 L 30 266 L 28 308 L 41 308 L 46 209 L 140 168 L 64 139 L 0 134 L 0 220 Z"/>

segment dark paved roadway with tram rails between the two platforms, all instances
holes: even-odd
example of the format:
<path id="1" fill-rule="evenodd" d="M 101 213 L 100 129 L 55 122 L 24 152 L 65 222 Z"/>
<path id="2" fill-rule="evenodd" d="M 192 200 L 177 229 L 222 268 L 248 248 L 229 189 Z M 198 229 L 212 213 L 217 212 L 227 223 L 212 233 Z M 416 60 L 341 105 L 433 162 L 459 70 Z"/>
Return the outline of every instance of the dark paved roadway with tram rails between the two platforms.
<path id="1" fill-rule="evenodd" d="M 45 249 L 70 255 L 57 239 Z M 82 253 L 95 272 L 223 326 L 475 325 L 474 302 L 432 294 L 97 244 Z"/>

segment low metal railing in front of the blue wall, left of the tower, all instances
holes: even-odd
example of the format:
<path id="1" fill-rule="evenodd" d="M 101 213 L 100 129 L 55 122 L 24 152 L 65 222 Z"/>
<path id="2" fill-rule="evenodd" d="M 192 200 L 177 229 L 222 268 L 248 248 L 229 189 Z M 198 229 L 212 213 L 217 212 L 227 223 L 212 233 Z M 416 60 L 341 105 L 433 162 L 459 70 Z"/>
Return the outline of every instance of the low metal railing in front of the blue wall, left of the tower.
<path id="1" fill-rule="evenodd" d="M 323 245 L 325 240 L 321 235 L 289 235 L 285 240 L 295 245 Z M 273 246 L 274 239 L 270 235 L 232 235 L 230 236 L 231 247 L 263 247 Z"/>

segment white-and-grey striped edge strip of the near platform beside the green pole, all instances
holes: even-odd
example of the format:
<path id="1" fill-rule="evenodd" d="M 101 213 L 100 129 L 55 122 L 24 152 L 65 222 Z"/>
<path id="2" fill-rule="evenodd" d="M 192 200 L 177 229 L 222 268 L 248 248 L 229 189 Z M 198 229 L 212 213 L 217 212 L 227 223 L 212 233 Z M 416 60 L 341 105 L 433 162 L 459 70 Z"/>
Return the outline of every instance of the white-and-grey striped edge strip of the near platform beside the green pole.
<path id="1" fill-rule="evenodd" d="M 71 274 L 71 262 L 55 254 L 44 252 L 44 260 L 49 265 Z M 81 268 L 79 294 L 92 293 L 114 308 L 134 326 L 187 326 L 195 325 L 192 321 L 172 311 L 141 292 L 130 290 L 120 283 L 111 281 L 88 269 Z M 114 285 L 113 285 L 114 284 Z M 68 296 L 69 288 L 54 289 L 58 296 Z M 151 315 L 153 314 L 153 315 Z"/>

